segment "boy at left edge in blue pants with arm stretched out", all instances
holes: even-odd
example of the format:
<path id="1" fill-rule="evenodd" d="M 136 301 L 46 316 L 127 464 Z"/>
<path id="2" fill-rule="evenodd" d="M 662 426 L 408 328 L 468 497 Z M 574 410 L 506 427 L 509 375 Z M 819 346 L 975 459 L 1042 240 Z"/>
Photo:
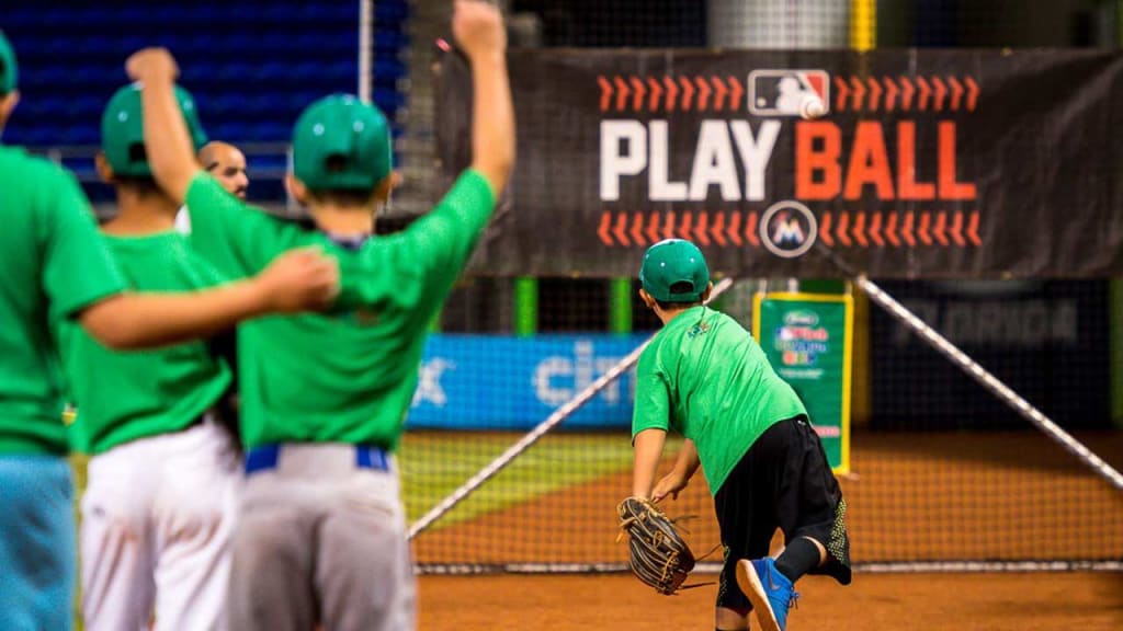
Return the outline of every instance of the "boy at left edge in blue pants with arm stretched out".
<path id="1" fill-rule="evenodd" d="M 17 79 L 0 33 L 0 128 L 19 100 Z M 54 327 L 73 321 L 112 348 L 175 344 L 266 312 L 325 305 L 337 272 L 302 254 L 265 277 L 208 292 L 133 293 L 73 176 L 0 146 L 0 629 L 66 631 L 76 555 Z"/>

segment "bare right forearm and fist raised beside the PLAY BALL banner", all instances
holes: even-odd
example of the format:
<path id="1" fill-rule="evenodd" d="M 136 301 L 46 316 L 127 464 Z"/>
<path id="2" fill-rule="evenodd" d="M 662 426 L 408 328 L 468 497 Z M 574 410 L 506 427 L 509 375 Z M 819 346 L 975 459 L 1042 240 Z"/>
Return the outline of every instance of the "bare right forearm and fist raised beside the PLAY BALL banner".
<path id="1" fill-rule="evenodd" d="M 499 195 L 514 165 L 514 107 L 499 8 L 483 0 L 456 0 L 453 36 L 472 66 L 472 168 Z"/>

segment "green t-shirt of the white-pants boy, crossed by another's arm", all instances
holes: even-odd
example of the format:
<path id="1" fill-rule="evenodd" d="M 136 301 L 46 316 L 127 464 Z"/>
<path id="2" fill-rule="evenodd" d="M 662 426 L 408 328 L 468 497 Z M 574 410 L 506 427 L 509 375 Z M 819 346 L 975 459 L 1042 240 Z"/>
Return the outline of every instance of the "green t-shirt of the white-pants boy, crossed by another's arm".
<path id="1" fill-rule="evenodd" d="M 191 292 L 222 283 L 179 232 L 104 239 L 131 290 Z M 229 368 L 203 341 L 119 353 L 74 323 L 65 324 L 60 338 L 77 406 L 72 440 L 75 448 L 91 454 L 180 431 L 230 385 Z"/>

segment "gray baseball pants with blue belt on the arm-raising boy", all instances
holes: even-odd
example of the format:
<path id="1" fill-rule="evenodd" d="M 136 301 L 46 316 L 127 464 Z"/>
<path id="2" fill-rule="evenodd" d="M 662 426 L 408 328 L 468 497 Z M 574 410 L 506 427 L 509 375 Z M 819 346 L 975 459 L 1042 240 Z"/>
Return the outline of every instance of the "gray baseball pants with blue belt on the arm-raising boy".
<path id="1" fill-rule="evenodd" d="M 416 583 L 392 458 L 339 443 L 247 452 L 228 598 L 238 631 L 407 631 Z M 256 463 L 256 464 L 255 464 Z"/>

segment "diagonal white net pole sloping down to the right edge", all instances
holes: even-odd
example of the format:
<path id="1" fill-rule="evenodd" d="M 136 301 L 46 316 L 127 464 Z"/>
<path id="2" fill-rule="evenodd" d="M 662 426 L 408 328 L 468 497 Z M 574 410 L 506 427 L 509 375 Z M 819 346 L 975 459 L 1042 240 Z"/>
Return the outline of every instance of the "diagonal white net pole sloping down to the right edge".
<path id="1" fill-rule="evenodd" d="M 1060 443 L 1061 447 L 1077 458 L 1087 463 L 1093 470 L 1103 476 L 1104 479 L 1111 483 L 1112 486 L 1123 491 L 1123 475 L 1121 475 L 1120 472 L 1115 470 L 1114 467 L 1105 463 L 1099 456 L 1096 456 L 1094 451 L 1085 447 L 1080 443 L 1080 441 L 1072 438 L 1071 435 L 1061 429 L 1060 426 L 1054 423 L 1049 417 L 1034 408 L 1029 401 L 1014 392 L 998 377 L 994 376 L 990 372 L 980 366 L 978 362 L 971 359 L 966 353 L 960 350 L 959 347 L 951 344 L 948 338 L 943 337 L 935 329 L 928 326 L 928 323 L 921 320 L 915 313 L 897 302 L 876 283 L 867 278 L 865 274 L 858 275 L 855 278 L 855 284 L 861 287 L 862 291 L 869 295 L 870 300 L 876 302 L 891 316 L 912 329 L 941 355 L 962 368 L 964 372 L 983 385 L 983 387 L 1007 402 L 1011 406 L 1017 410 L 1017 413 L 1043 431 L 1046 436 Z"/>

